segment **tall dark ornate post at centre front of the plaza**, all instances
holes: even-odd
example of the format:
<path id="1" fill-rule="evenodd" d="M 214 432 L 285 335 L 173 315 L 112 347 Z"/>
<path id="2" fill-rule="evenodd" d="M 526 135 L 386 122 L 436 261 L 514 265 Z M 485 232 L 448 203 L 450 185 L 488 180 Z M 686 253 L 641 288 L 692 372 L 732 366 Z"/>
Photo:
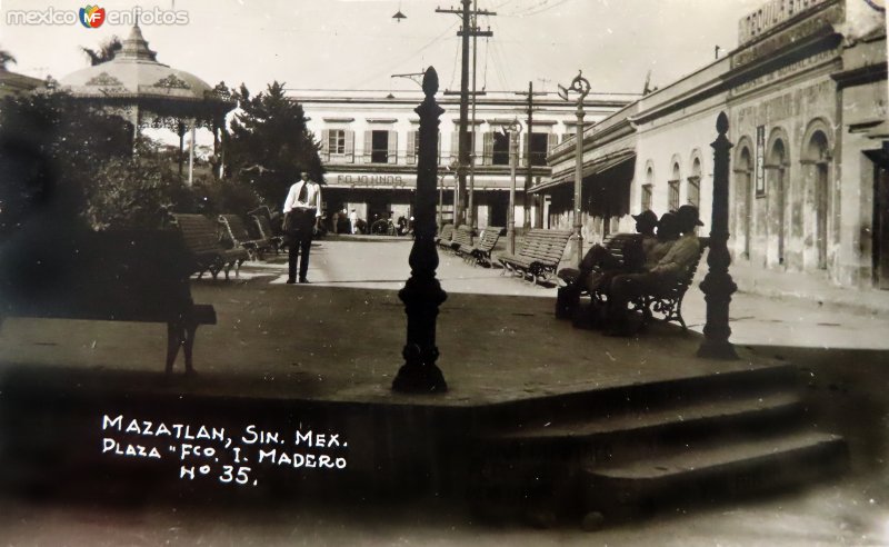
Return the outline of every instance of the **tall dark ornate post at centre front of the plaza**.
<path id="1" fill-rule="evenodd" d="M 426 99 L 413 111 L 420 116 L 420 151 L 414 193 L 413 247 L 410 251 L 410 279 L 398 297 L 408 315 L 408 340 L 401 355 L 404 365 L 392 381 L 402 392 L 442 392 L 448 390 L 444 376 L 436 366 L 436 319 L 439 306 L 448 298 L 436 279 L 436 186 L 438 182 L 438 127 L 444 110 L 436 102 L 438 74 L 429 67 L 423 76 Z"/>

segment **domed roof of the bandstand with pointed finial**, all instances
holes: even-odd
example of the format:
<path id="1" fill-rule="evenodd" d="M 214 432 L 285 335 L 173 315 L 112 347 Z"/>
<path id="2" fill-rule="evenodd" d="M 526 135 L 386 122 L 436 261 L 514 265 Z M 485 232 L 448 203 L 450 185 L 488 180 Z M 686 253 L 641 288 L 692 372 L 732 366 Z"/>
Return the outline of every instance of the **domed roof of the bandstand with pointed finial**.
<path id="1" fill-rule="evenodd" d="M 133 26 L 111 61 L 72 72 L 60 81 L 74 97 L 97 99 L 159 99 L 173 102 L 217 99 L 197 76 L 157 61 L 139 26 Z"/>

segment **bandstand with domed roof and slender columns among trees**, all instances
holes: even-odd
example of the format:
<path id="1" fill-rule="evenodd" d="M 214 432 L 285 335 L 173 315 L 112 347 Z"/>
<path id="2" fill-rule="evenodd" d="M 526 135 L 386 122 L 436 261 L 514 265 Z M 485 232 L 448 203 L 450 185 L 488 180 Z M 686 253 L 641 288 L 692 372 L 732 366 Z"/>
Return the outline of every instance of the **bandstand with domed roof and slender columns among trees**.
<path id="1" fill-rule="evenodd" d="M 133 26 L 111 61 L 72 72 L 59 86 L 77 98 L 127 118 L 133 126 L 133 137 L 143 128 L 176 132 L 180 175 L 184 135 L 191 131 L 189 186 L 193 178 L 196 128 L 212 131 L 213 153 L 218 155 L 226 113 L 237 105 L 222 83 L 212 88 L 190 72 L 158 62 L 157 52 L 149 49 L 139 24 Z"/>

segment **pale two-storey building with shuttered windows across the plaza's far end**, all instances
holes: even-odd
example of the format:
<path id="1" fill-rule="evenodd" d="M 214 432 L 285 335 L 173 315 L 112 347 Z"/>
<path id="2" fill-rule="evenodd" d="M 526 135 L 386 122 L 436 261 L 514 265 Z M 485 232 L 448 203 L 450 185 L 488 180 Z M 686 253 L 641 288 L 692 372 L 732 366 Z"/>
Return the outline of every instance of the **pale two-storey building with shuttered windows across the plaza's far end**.
<path id="1" fill-rule="evenodd" d="M 309 129 L 320 140 L 324 176 L 324 207 L 333 211 L 356 209 L 359 218 L 372 223 L 389 215 L 410 217 L 417 182 L 419 116 L 413 109 L 422 95 L 334 90 L 293 90 L 290 97 L 302 105 Z M 592 93 L 587 99 L 587 120 L 605 118 L 636 97 Z M 453 219 L 457 187 L 459 97 L 440 96 L 444 109 L 439 131 L 439 173 L 442 220 Z M 573 136 L 575 106 L 553 95 L 535 96 L 532 126 L 528 131 L 528 100 L 518 93 L 488 92 L 477 98 L 475 125 L 469 128 L 473 142 L 473 169 L 467 175 L 467 192 L 472 187 L 472 218 L 476 227 L 506 226 L 511 169 L 510 136 L 506 127 L 518 121 L 520 159 L 516 181 L 516 225 L 538 215 L 538 203 L 528 203 L 526 183 L 550 177 L 546 158 L 552 148 Z M 471 129 L 470 129 L 471 131 Z M 530 195 L 529 195 L 530 197 Z M 539 215 L 538 215 L 539 216 Z"/>

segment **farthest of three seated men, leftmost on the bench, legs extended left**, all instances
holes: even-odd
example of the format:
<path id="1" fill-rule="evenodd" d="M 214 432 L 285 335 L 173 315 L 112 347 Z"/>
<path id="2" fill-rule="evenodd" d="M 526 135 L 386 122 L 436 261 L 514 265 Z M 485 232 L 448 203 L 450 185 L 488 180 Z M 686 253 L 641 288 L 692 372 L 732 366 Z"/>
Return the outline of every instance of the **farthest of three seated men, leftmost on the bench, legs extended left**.
<path id="1" fill-rule="evenodd" d="M 636 231 L 640 238 L 638 241 L 631 241 L 627 245 L 622 263 L 605 246 L 596 243 L 583 256 L 580 261 L 580 269 L 565 268 L 559 270 L 559 278 L 568 285 L 559 289 L 556 307 L 557 317 L 570 317 L 573 314 L 573 309 L 580 299 L 580 294 L 589 285 L 593 270 L 631 272 L 641 268 L 646 261 L 645 257 L 657 243 L 655 227 L 658 225 L 658 216 L 647 209 L 639 215 L 633 215 L 632 218 L 636 220 Z"/>

